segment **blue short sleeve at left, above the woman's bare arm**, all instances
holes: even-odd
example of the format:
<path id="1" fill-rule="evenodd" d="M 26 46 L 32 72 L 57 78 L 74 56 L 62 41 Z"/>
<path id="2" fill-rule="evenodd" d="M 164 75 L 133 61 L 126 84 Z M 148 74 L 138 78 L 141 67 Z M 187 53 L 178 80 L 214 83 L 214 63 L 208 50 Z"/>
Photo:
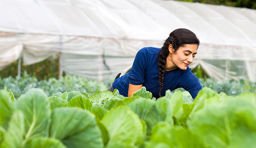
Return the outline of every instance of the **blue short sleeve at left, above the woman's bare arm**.
<path id="1" fill-rule="evenodd" d="M 142 48 L 135 56 L 133 66 L 129 71 L 128 79 L 129 84 L 141 85 L 144 83 L 145 71 L 147 68 L 147 62 L 149 58 L 149 52 L 147 48 Z"/>

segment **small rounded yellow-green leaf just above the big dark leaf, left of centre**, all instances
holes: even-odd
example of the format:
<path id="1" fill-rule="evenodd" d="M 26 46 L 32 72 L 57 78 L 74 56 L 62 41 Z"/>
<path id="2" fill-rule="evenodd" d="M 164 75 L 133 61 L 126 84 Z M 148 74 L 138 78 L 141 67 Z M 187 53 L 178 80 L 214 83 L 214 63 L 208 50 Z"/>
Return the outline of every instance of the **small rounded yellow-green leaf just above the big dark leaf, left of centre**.
<path id="1" fill-rule="evenodd" d="M 91 110 L 92 107 L 92 103 L 89 99 L 87 99 L 84 96 L 81 95 L 77 95 L 75 97 L 73 97 L 69 102 L 68 102 L 68 106 L 70 107 L 79 107 L 79 108 L 83 108 L 83 109 L 87 109 L 87 110 Z"/>

